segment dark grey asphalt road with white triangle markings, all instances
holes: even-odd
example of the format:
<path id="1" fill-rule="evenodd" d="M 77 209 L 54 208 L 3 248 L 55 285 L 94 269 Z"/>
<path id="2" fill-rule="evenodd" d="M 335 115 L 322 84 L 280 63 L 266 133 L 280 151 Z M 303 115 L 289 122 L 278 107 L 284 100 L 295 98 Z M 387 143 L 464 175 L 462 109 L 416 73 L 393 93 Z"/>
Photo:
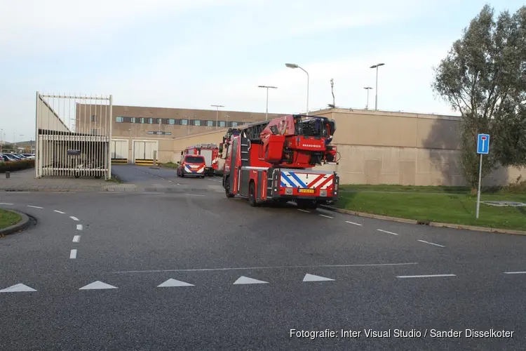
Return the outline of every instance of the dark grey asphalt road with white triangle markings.
<path id="1" fill-rule="evenodd" d="M 526 274 L 506 273 L 526 271 L 526 237 L 251 208 L 209 191 L 216 178 L 123 170 L 131 179 L 139 171 L 164 178 L 144 183 L 203 191 L 0 194 L 2 208 L 38 219 L 0 238 L 0 291 L 36 290 L 0 292 L 1 350 L 523 348 Z M 313 275 L 333 280 L 304 282 Z M 259 284 L 235 284 L 250 279 Z M 112 289 L 81 289 L 93 283 Z M 291 337 L 291 329 L 337 337 Z M 368 329 L 391 336 L 367 337 Z M 432 329 L 462 334 L 438 338 Z M 466 337 L 466 329 L 513 337 Z"/>

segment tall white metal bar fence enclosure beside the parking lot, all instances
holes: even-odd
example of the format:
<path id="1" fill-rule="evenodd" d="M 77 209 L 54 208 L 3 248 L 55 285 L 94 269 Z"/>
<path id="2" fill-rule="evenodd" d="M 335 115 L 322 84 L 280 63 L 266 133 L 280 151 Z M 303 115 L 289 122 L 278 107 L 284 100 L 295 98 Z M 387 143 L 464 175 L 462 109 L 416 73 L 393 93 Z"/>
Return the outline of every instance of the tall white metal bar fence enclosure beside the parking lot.
<path id="1" fill-rule="evenodd" d="M 36 178 L 111 178 L 112 106 L 112 95 L 37 91 Z"/>

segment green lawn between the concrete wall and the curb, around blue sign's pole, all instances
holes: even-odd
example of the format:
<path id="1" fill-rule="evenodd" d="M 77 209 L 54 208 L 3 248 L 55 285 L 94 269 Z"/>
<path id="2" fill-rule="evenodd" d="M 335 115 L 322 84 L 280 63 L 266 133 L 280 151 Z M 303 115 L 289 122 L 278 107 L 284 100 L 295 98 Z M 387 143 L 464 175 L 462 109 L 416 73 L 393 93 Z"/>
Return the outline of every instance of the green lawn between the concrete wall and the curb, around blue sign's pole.
<path id="1" fill-rule="evenodd" d="M 376 191 L 377 188 L 375 188 Z M 478 220 L 475 195 L 406 193 L 340 192 L 336 206 L 351 211 L 375 213 L 413 220 L 478 225 L 483 227 L 526 230 L 526 207 L 495 207 L 480 203 Z M 482 194 L 481 201 L 508 200 L 526 202 L 526 193 Z"/>

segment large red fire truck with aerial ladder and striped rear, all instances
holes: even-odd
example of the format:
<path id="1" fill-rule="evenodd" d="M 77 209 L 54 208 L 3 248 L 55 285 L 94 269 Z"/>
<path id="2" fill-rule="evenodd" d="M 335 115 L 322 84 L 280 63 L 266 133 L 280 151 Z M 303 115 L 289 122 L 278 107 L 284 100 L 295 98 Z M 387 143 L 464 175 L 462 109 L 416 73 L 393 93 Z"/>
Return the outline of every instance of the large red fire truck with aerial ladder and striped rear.
<path id="1" fill-rule="evenodd" d="M 219 147 L 220 154 L 226 150 L 227 197 L 248 198 L 251 206 L 294 201 L 298 208 L 317 208 L 335 202 L 339 176 L 313 169 L 338 163 L 330 145 L 335 131 L 334 120 L 303 114 L 229 128 Z"/>

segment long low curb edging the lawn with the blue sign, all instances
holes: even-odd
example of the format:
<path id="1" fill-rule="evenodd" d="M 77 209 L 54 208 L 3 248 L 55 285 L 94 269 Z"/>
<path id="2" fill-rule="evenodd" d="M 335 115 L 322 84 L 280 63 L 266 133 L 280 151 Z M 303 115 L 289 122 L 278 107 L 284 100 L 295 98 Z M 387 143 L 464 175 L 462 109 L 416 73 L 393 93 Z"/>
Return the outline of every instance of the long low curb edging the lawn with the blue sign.
<path id="1" fill-rule="evenodd" d="M 523 230 L 477 227 L 475 225 L 459 225 L 459 224 L 431 222 L 431 221 L 424 221 L 424 220 L 411 220 L 407 218 L 389 217 L 389 216 L 383 216 L 383 215 L 375 215 L 373 213 L 344 210 L 342 208 L 335 208 L 335 207 L 327 206 L 327 205 L 319 205 L 319 207 L 325 210 L 328 210 L 328 211 L 344 213 L 346 215 L 374 218 L 374 219 L 379 219 L 379 220 L 391 220 L 391 222 L 417 224 L 417 225 L 429 225 L 431 227 L 445 227 L 445 228 L 452 228 L 452 229 L 473 230 L 477 232 L 492 232 L 492 233 L 511 234 L 511 235 L 526 235 L 526 231 L 523 231 Z"/>

